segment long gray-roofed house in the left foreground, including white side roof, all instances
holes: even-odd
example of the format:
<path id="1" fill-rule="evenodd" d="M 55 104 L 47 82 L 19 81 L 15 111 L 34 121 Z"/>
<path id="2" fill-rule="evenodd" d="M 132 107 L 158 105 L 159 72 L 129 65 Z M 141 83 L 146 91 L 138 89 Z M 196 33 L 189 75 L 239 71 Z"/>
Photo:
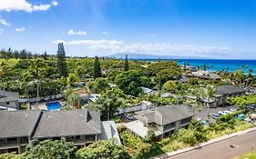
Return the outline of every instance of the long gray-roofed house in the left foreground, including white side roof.
<path id="1" fill-rule="evenodd" d="M 119 142 L 116 124 L 101 122 L 99 112 L 89 110 L 2 111 L 0 130 L 0 154 L 22 153 L 33 139 L 64 138 L 78 147 L 111 137 Z"/>

